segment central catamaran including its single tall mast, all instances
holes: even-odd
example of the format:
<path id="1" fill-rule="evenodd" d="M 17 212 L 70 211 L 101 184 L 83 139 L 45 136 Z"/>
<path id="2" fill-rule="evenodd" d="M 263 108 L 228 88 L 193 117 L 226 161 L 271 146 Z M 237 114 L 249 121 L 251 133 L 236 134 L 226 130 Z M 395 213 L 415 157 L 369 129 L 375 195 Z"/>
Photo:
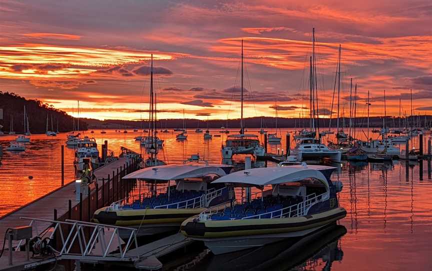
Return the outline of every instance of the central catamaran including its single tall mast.
<path id="1" fill-rule="evenodd" d="M 228 135 L 225 144 L 222 144 L 221 152 L 223 159 L 231 159 L 234 154 L 252 154 L 255 157 L 265 155 L 265 148 L 259 143 L 258 136 L 255 134 L 244 134 L 243 90 L 243 40 L 241 40 L 240 133 Z"/>

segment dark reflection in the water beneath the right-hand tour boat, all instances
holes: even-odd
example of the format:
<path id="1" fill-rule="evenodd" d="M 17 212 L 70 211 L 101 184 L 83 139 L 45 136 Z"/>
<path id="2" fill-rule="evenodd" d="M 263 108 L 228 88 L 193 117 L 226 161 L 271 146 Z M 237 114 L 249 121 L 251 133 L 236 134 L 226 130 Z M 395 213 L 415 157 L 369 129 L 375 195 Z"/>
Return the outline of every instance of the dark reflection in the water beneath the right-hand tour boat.
<path id="1" fill-rule="evenodd" d="M 341 225 L 330 225 L 307 236 L 286 239 L 255 249 L 208 255 L 189 270 L 310 270 L 329 269 L 343 258 Z"/>

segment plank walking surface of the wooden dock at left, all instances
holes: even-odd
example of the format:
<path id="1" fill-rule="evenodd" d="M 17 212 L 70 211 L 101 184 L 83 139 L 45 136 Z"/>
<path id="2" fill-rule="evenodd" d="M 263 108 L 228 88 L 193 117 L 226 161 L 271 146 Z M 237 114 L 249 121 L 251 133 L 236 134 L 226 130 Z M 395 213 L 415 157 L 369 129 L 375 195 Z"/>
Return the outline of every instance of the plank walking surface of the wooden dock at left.
<path id="1" fill-rule="evenodd" d="M 116 171 L 120 166 L 123 166 L 126 162 L 125 157 L 119 157 L 118 160 L 110 162 L 104 166 L 101 166 L 93 171 L 98 185 L 102 184 L 102 178 L 107 178 L 108 174 L 112 174 L 112 171 Z M 75 183 L 71 180 L 69 183 L 58 187 L 57 189 L 41 196 L 24 206 L 9 212 L 0 217 L 0 247 L 3 245 L 3 236 L 7 228 L 28 225 L 29 220 L 20 219 L 20 217 L 37 217 L 43 219 L 53 219 L 53 209 L 57 210 L 57 217 L 62 216 L 68 211 L 68 201 L 72 201 L 72 208 L 79 204 L 79 201 L 75 200 Z M 33 224 L 33 236 L 38 235 L 47 227 L 49 222 L 38 221 Z M 14 245 L 17 241 L 14 242 Z M 7 244 L 6 244 L 7 246 Z M 4 256 L 4 255 L 3 255 Z"/>

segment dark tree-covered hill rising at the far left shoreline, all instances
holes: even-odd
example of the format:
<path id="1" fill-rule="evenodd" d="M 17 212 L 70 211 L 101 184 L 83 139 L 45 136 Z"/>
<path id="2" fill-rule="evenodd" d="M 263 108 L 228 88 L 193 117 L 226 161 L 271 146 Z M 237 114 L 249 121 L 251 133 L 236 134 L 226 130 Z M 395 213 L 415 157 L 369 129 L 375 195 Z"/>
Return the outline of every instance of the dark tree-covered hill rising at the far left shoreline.
<path id="1" fill-rule="evenodd" d="M 72 117 L 66 112 L 55 109 L 52 105 L 41 102 L 37 99 L 25 99 L 15 93 L 0 91 L 0 109 L 3 109 L 3 119 L 0 119 L 1 129 L 8 132 L 10 129 L 10 116 L 13 116 L 13 130 L 22 133 L 24 130 L 24 105 L 28 116 L 28 126 L 31 133 L 44 133 L 46 130 L 46 116 L 48 116 L 49 128 L 51 128 L 51 117 L 53 129 L 66 132 L 72 129 Z M 82 121 L 79 125 L 86 128 Z"/>

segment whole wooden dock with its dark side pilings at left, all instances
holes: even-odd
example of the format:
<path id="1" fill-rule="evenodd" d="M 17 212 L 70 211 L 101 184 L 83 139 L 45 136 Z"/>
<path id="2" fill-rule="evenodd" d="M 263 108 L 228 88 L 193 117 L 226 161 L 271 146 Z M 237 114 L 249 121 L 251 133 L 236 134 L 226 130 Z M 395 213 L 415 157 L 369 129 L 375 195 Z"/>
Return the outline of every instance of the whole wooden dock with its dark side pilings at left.
<path id="1" fill-rule="evenodd" d="M 122 181 L 121 177 L 135 170 L 136 166 L 136 159 L 126 161 L 125 157 L 119 157 L 117 160 L 93 171 L 97 179 L 97 184 L 94 183 L 94 185 L 92 185 L 93 188 L 90 190 L 90 196 L 83 197 L 81 201 L 75 200 L 75 181 L 71 180 L 69 183 L 58 187 L 44 196 L 1 216 L 0 248 L 3 245 L 3 236 L 7 228 L 28 225 L 29 220 L 20 219 L 20 217 L 37 217 L 54 220 L 79 217 L 82 220 L 88 221 L 95 209 L 127 195 L 132 185 L 130 185 L 130 182 Z M 83 204 L 83 202 L 87 202 L 86 205 Z M 49 226 L 49 222 L 35 222 L 32 225 L 33 236 L 37 236 Z M 17 244 L 17 241 L 13 242 L 14 246 Z M 1 260 L 0 270 L 11 267 L 7 265 L 7 251 L 4 252 L 2 258 L 3 257 L 6 259 L 6 261 L 4 261 L 6 265 L 4 266 L 3 260 Z"/>

